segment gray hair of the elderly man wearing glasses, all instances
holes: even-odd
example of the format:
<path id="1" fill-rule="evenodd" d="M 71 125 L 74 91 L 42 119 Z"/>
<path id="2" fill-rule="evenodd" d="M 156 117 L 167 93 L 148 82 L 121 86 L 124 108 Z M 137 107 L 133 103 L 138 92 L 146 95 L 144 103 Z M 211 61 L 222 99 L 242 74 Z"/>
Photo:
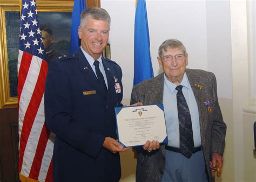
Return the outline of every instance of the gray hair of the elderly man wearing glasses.
<path id="1" fill-rule="evenodd" d="M 186 47 L 177 39 L 167 39 L 158 48 L 158 56 L 163 58 L 163 51 L 167 52 L 168 48 L 181 48 L 184 55 L 187 55 Z"/>

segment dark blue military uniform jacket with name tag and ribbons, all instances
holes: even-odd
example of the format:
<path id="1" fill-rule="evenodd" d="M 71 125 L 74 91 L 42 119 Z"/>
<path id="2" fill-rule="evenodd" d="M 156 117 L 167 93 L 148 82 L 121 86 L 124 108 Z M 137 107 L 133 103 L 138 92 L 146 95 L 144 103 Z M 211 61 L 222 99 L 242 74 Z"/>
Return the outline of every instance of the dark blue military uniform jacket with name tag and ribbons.
<path id="1" fill-rule="evenodd" d="M 103 148 L 105 137 L 117 138 L 114 107 L 122 106 L 122 70 L 103 58 L 107 98 L 79 48 L 51 61 L 45 86 L 47 127 L 56 134 L 54 181 L 118 181 L 119 153 Z"/>

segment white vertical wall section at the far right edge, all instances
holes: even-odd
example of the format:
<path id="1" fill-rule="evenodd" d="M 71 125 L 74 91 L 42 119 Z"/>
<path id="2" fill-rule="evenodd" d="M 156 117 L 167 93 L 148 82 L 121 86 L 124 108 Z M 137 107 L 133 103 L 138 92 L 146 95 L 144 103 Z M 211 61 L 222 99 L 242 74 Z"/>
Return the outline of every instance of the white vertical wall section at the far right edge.
<path id="1" fill-rule="evenodd" d="M 255 105 L 255 6 L 254 1 L 231 1 L 231 39 L 233 72 L 234 177 L 236 181 L 256 181 L 253 156 Z M 254 14 L 251 14 L 251 8 Z M 254 21 L 254 23 L 253 23 Z M 254 81 L 253 81 L 254 80 Z M 254 94 L 253 94 L 254 92 Z M 254 96 L 253 96 L 254 95 Z"/>

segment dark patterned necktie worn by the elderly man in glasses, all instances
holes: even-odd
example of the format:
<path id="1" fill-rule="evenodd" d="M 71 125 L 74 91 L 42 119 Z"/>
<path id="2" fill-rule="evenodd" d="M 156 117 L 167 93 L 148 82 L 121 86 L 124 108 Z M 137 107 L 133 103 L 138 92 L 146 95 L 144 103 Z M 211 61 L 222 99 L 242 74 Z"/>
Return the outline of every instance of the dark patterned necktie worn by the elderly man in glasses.
<path id="1" fill-rule="evenodd" d="M 190 110 L 188 109 L 186 99 L 182 93 L 181 85 L 176 87 L 177 93 L 177 107 L 179 117 L 179 148 L 180 152 L 190 158 L 194 151 L 193 130 L 190 117 Z"/>

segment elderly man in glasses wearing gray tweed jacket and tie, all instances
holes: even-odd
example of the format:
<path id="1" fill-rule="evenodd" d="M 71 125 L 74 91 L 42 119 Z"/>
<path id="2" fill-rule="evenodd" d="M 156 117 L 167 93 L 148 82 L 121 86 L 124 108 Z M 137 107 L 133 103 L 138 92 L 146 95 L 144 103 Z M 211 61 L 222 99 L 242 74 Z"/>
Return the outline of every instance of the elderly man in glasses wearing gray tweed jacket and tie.
<path id="1" fill-rule="evenodd" d="M 215 76 L 187 69 L 179 40 L 165 40 L 158 55 L 164 73 L 134 86 L 131 103 L 163 103 L 169 141 L 136 148 L 136 181 L 211 181 L 211 170 L 223 164 L 226 135 Z"/>

